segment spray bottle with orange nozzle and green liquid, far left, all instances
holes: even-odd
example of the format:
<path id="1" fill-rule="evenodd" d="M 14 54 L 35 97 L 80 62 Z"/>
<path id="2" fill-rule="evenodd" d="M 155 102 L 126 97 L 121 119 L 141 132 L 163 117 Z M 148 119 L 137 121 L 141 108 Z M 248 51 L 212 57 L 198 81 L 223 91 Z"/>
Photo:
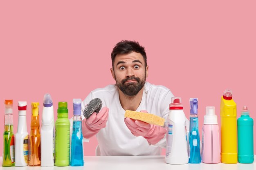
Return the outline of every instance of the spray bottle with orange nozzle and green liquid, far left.
<path id="1" fill-rule="evenodd" d="M 13 115 L 12 107 L 13 100 L 5 100 L 5 114 L 4 114 L 4 141 L 3 141 L 3 161 L 2 166 L 14 166 L 14 135 L 13 135 Z"/>

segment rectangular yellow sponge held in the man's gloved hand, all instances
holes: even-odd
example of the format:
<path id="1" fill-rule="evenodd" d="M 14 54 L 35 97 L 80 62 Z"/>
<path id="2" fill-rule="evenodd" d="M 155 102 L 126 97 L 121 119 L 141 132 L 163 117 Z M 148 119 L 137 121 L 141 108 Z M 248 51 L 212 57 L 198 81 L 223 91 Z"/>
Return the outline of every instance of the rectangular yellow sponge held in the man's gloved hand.
<path id="1" fill-rule="evenodd" d="M 154 124 L 159 126 L 164 126 L 165 119 L 150 113 L 143 113 L 143 112 L 135 112 L 132 110 L 126 110 L 124 117 L 129 117 L 131 119 L 144 121 L 148 124 Z"/>

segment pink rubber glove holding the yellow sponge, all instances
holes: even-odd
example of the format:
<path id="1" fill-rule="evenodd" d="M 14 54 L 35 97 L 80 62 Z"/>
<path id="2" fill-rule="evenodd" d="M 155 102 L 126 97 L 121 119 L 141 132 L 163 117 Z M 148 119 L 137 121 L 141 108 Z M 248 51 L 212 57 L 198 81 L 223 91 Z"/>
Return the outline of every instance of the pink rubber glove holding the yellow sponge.
<path id="1" fill-rule="evenodd" d="M 147 113 L 145 110 L 141 110 L 141 112 Z M 147 139 L 149 144 L 156 144 L 164 138 L 164 134 L 166 133 L 165 128 L 148 124 L 144 121 L 134 120 L 126 117 L 124 122 L 128 129 L 132 132 L 132 135 L 144 137 Z"/>

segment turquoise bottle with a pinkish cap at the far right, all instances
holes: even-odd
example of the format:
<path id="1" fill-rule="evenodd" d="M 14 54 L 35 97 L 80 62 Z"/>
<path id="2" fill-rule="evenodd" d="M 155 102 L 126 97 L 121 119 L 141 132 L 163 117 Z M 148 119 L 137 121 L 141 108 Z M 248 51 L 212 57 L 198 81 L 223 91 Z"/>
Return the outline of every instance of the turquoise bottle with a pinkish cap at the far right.
<path id="1" fill-rule="evenodd" d="M 237 119 L 238 134 L 238 162 L 253 163 L 253 119 L 249 116 L 246 106 L 241 111 L 241 117 Z"/>

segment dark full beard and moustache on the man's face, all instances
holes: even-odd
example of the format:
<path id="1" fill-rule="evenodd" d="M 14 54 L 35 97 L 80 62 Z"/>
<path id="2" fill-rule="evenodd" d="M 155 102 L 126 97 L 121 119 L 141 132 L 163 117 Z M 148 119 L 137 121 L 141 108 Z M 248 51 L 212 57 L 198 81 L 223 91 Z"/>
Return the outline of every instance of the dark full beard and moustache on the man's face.
<path id="1" fill-rule="evenodd" d="M 128 80 L 136 80 L 137 82 L 127 82 Z M 140 79 L 139 77 L 128 77 L 126 79 L 123 79 L 121 82 L 117 81 L 118 88 L 128 96 L 135 96 L 139 93 L 141 88 L 143 88 L 145 82 L 146 82 L 146 74 L 144 79 Z"/>

